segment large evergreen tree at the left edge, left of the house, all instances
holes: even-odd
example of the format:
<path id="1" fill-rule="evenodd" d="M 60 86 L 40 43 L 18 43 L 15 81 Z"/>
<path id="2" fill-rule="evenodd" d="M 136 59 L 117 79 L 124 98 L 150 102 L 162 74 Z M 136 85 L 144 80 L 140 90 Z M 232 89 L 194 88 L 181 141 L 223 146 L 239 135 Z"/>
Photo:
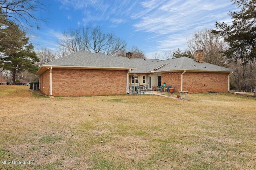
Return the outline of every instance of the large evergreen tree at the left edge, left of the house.
<path id="1" fill-rule="evenodd" d="M 0 41 L 0 68 L 12 72 L 13 84 L 15 84 L 16 73 L 24 70 L 35 73 L 38 69 L 35 62 L 39 61 L 34 52 L 34 46 L 28 44 L 26 33 L 18 29 L 18 25 L 14 25 L 16 28 L 2 23 L 0 27 L 1 35 L 5 37 Z"/>

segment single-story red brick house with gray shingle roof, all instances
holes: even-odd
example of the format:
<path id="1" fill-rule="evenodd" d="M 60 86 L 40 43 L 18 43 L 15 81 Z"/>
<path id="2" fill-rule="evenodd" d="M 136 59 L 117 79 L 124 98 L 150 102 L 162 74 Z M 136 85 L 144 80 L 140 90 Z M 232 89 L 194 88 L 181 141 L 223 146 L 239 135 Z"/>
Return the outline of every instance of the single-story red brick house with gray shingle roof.
<path id="1" fill-rule="evenodd" d="M 128 93 L 134 84 L 152 87 L 175 85 L 188 92 L 228 92 L 234 70 L 203 62 L 203 51 L 195 59 L 138 59 L 107 56 L 82 50 L 44 64 L 39 75 L 40 90 L 48 96 L 90 96 Z M 138 79 L 134 80 L 134 74 Z"/>

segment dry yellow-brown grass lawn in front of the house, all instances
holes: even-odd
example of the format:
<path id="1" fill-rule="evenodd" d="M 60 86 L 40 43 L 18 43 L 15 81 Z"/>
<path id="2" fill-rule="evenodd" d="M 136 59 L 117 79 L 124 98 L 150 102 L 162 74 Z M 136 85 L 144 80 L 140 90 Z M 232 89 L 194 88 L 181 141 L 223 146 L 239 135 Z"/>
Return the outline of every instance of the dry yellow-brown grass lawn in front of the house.
<path id="1" fill-rule="evenodd" d="M 37 95 L 35 95 L 37 96 Z M 0 86 L 0 169 L 256 169 L 256 100 L 34 97 Z"/>

